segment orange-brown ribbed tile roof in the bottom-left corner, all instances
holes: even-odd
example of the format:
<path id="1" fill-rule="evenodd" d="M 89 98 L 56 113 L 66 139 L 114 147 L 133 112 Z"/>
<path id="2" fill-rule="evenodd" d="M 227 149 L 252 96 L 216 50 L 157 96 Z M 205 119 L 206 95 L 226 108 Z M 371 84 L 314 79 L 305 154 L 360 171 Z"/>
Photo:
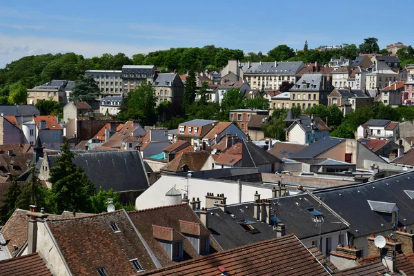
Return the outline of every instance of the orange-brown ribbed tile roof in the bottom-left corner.
<path id="1" fill-rule="evenodd" d="M 38 253 L 0 261 L 0 276 L 52 276 Z"/>

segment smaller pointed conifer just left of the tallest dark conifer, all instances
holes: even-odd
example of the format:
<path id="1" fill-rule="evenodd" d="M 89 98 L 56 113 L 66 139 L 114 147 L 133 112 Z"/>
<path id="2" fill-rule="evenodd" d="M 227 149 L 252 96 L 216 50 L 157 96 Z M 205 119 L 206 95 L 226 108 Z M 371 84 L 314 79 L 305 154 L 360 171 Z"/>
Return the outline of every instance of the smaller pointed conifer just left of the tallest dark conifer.
<path id="1" fill-rule="evenodd" d="M 32 162 L 29 166 L 30 180 L 23 186 L 21 194 L 17 197 L 16 207 L 26 209 L 30 205 L 37 207 L 46 206 L 46 197 L 48 190 L 41 185 L 39 177 L 37 177 L 39 170 L 36 164 Z"/>

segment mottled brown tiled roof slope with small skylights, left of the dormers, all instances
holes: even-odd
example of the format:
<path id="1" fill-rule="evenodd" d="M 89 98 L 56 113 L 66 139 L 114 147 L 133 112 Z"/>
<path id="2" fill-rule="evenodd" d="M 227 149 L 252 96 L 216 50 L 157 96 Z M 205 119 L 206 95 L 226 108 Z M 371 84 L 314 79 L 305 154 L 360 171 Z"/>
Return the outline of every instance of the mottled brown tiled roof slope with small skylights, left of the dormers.
<path id="1" fill-rule="evenodd" d="M 130 259 L 136 258 L 145 270 L 156 267 L 125 210 L 47 224 L 73 275 L 97 275 L 97 268 L 133 275 L 137 270 Z"/>

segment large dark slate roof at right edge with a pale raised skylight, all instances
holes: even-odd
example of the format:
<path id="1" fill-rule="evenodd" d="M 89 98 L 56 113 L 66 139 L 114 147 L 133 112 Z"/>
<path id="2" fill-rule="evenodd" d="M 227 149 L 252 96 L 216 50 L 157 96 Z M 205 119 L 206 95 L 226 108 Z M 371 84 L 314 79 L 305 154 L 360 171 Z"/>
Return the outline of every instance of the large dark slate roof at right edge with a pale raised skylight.
<path id="1" fill-rule="evenodd" d="M 351 233 L 361 237 L 392 229 L 391 214 L 371 210 L 368 200 L 397 204 L 400 209 L 398 227 L 414 224 L 413 199 L 404 192 L 414 190 L 413 179 L 414 171 L 411 170 L 365 184 L 319 190 L 314 194 L 335 213 L 342 213 L 350 223 Z"/>

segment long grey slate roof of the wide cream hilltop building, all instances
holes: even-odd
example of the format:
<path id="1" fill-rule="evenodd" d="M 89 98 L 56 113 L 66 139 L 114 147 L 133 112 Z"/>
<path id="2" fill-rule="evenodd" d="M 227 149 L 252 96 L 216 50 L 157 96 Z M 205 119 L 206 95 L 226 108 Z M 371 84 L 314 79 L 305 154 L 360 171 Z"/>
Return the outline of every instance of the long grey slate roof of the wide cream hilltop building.
<path id="1" fill-rule="evenodd" d="M 271 75 L 295 75 L 299 70 L 305 67 L 302 61 L 288 61 L 288 62 L 244 62 L 240 64 L 244 74 L 271 74 Z"/>

